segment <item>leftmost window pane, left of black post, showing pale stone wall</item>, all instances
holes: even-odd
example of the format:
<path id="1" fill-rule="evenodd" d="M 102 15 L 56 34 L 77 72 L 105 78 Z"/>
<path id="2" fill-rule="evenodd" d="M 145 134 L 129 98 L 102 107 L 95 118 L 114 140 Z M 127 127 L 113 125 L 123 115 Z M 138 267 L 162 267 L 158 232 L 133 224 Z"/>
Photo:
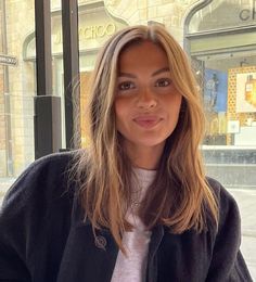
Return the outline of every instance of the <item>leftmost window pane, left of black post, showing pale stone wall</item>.
<path id="1" fill-rule="evenodd" d="M 35 30 L 34 14 L 30 0 L 0 1 L 0 178 L 4 179 L 20 175 L 34 161 L 35 63 L 25 50 L 26 38 Z"/>

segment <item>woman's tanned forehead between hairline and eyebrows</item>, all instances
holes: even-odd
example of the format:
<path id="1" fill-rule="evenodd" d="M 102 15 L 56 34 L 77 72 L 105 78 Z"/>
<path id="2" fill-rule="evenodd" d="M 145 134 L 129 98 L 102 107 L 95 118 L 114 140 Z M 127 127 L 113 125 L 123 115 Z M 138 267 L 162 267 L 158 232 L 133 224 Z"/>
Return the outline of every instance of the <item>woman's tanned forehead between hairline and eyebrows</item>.
<path id="1" fill-rule="evenodd" d="M 118 66 L 135 66 L 141 64 L 161 64 L 168 66 L 165 50 L 150 40 L 137 41 L 126 46 L 118 57 Z"/>

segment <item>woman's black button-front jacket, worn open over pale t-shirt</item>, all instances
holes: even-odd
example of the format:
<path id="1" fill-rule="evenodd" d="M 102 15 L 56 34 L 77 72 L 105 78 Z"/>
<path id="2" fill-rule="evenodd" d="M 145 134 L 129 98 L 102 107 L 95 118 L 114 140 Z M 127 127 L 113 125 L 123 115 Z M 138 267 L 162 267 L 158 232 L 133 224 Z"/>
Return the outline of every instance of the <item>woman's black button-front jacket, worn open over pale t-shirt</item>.
<path id="1" fill-rule="evenodd" d="M 35 162 L 9 190 L 0 214 L 0 281 L 111 281 L 118 248 L 108 232 L 82 221 L 66 169 L 71 153 Z M 252 281 L 240 247 L 240 215 L 232 196 L 209 180 L 220 205 L 218 232 L 171 234 L 153 229 L 149 282 Z"/>

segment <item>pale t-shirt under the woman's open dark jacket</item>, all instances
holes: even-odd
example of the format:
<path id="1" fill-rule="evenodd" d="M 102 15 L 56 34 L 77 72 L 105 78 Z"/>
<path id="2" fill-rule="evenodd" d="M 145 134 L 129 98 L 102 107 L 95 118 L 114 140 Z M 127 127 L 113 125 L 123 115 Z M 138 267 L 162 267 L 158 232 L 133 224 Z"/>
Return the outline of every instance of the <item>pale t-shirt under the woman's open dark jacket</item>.
<path id="1" fill-rule="evenodd" d="M 136 215 L 136 208 L 144 197 L 149 185 L 152 183 L 156 171 L 133 168 L 132 191 L 135 205 L 132 205 L 126 219 L 135 226 L 131 232 L 125 232 L 123 244 L 127 257 L 119 251 L 111 282 L 142 282 L 145 280 L 149 243 L 151 231 L 146 231 L 143 222 Z"/>

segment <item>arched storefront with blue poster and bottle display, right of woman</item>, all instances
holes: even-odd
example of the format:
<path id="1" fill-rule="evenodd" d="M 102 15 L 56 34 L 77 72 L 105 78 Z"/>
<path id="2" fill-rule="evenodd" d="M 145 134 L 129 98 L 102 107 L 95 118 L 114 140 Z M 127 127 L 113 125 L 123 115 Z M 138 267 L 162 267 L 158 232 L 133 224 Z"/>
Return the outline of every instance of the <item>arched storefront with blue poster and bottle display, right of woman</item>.
<path id="1" fill-rule="evenodd" d="M 255 1 L 227 0 L 212 1 L 185 27 L 207 117 L 207 169 L 227 187 L 256 183 L 255 23 Z"/>

